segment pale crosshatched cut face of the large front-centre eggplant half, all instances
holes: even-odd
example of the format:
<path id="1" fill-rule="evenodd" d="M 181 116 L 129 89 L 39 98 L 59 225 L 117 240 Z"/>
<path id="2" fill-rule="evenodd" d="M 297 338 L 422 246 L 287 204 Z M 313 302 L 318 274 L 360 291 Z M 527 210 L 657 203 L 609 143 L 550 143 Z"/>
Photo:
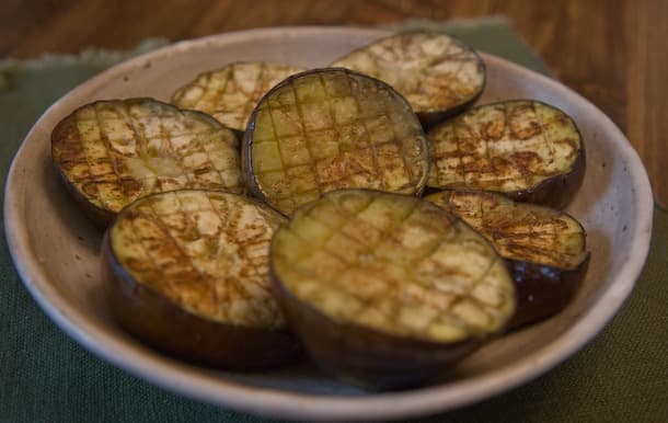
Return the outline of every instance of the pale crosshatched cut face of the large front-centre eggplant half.
<path id="1" fill-rule="evenodd" d="M 437 342 L 494 332 L 514 288 L 492 247 L 415 197 L 344 190 L 301 207 L 273 241 L 273 267 L 338 322 Z"/>

